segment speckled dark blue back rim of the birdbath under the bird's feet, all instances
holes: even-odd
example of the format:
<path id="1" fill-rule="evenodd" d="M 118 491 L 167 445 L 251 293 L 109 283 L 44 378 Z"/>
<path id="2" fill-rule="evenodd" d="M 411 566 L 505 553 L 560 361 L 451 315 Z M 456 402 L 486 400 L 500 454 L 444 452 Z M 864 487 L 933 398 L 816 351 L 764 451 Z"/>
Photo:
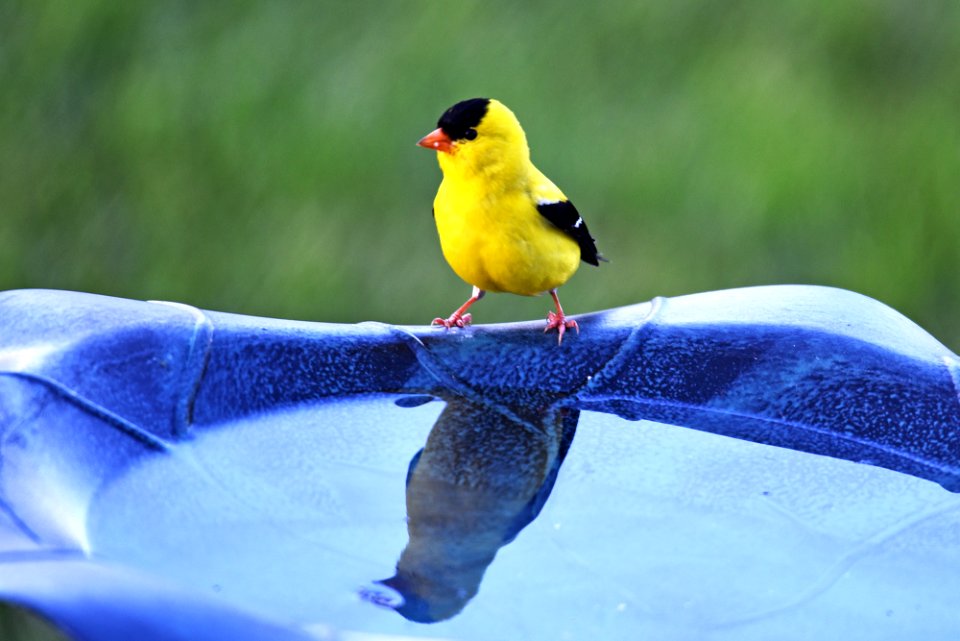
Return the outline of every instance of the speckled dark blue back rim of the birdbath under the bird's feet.
<path id="1" fill-rule="evenodd" d="M 580 317 L 581 336 L 555 348 L 532 323 L 332 325 L 70 292 L 5 293 L 0 317 L 8 387 L 39 384 L 156 449 L 326 397 L 447 389 L 507 406 L 550 396 L 960 489 L 960 360 L 843 290 L 657 299 Z"/>

